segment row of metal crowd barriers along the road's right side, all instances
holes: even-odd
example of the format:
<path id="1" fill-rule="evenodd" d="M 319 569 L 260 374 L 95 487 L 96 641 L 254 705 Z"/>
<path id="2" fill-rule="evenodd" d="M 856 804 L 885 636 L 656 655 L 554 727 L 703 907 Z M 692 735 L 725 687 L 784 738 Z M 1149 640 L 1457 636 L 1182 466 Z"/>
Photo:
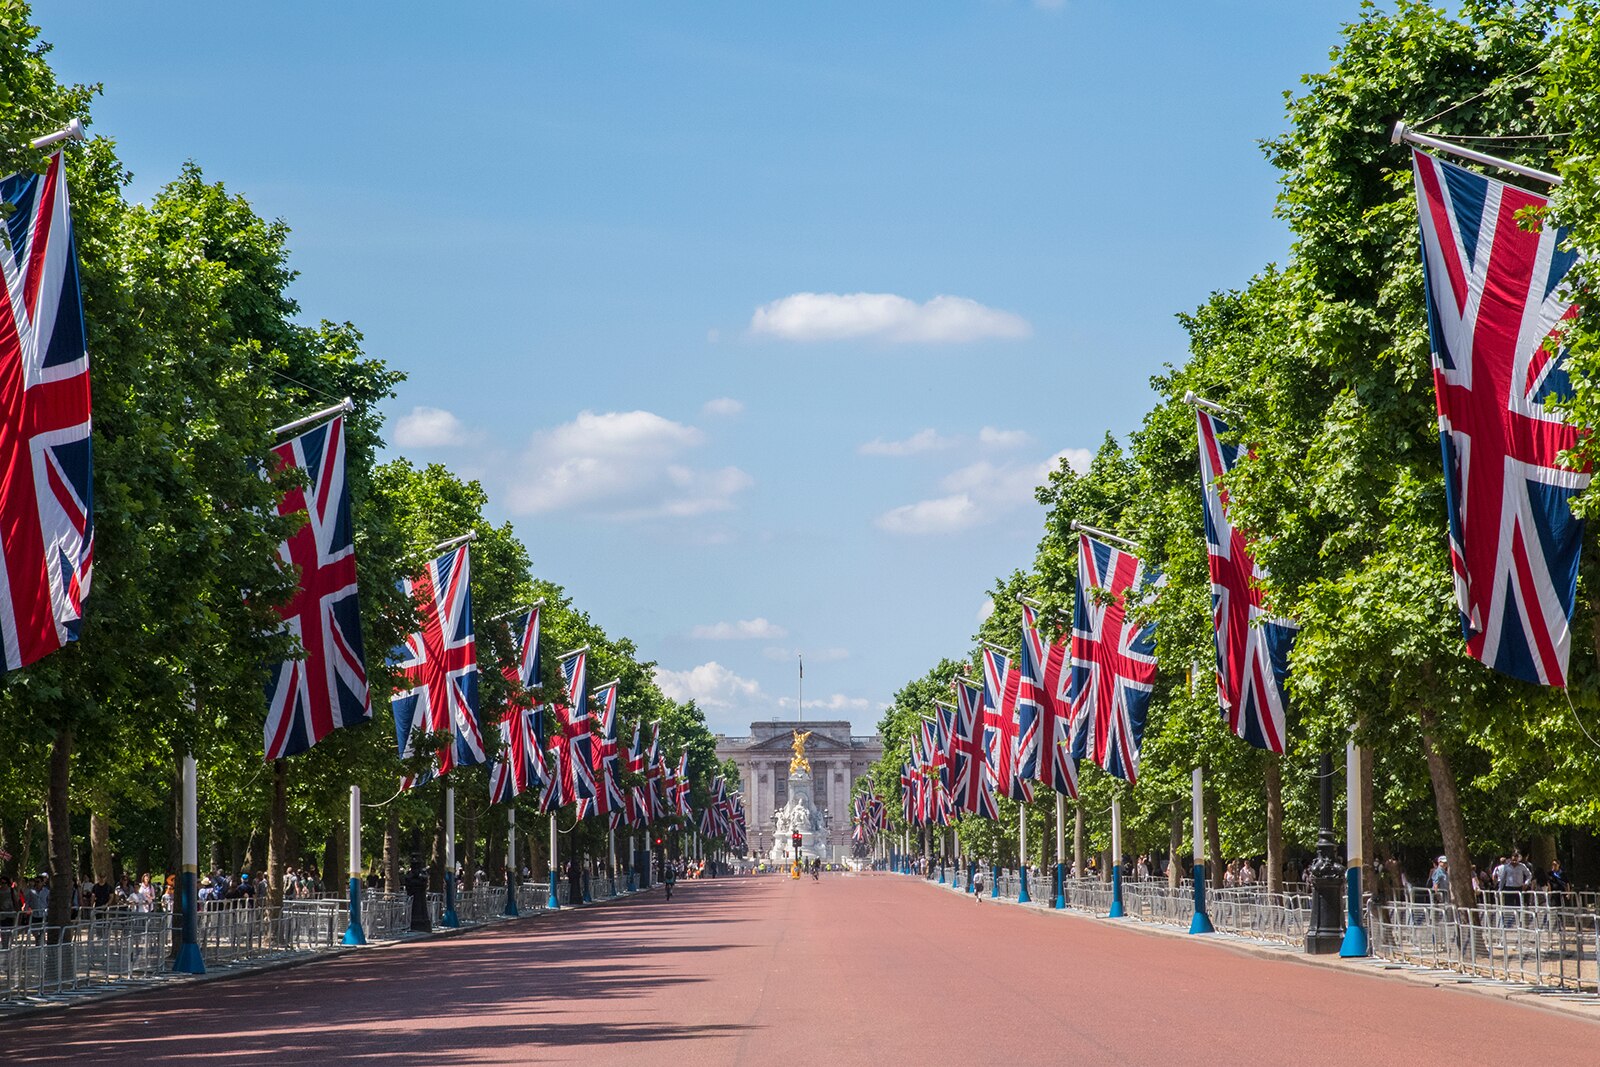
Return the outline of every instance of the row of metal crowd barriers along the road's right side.
<path id="1" fill-rule="evenodd" d="M 922 872 L 934 880 L 941 869 Z M 968 869 L 942 869 L 946 888 L 968 891 Z M 998 886 L 998 891 L 995 889 Z M 1019 880 L 1002 870 L 998 880 L 984 869 L 984 896 L 1016 901 Z M 1056 896 L 1054 873 L 1029 873 L 1027 907 L 1050 909 Z M 1099 878 L 1064 878 L 1069 909 L 1109 915 L 1112 886 Z M 1600 992 L 1600 901 L 1592 893 L 1488 891 L 1472 909 L 1458 909 L 1443 893 L 1408 888 L 1397 899 L 1363 899 L 1371 955 L 1397 963 L 1454 971 L 1522 985 Z M 1189 926 L 1194 918 L 1194 883 L 1178 886 L 1160 880 L 1122 883 L 1126 918 Z M 1339 896 L 1341 913 L 1344 896 Z M 1256 941 L 1302 945 L 1310 926 L 1310 891 L 1290 885 L 1283 893 L 1266 886 L 1206 889 L 1206 915 L 1219 933 Z"/>

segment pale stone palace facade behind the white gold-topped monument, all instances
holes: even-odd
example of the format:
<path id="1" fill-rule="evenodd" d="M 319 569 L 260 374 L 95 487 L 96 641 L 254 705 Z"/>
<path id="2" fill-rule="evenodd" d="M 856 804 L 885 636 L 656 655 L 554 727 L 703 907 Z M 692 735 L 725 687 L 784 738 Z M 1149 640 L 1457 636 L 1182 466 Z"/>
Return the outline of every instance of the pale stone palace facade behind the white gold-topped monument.
<path id="1" fill-rule="evenodd" d="M 739 766 L 744 789 L 746 827 L 750 854 L 765 856 L 773 846 L 773 813 L 789 801 L 789 760 L 795 731 L 811 731 L 805 742 L 816 782 L 816 803 L 829 811 L 830 856 L 850 854 L 850 793 L 858 777 L 866 777 L 883 755 L 877 734 L 853 736 L 848 721 L 763 721 L 750 723 L 750 736 L 717 734 L 717 760 Z"/>

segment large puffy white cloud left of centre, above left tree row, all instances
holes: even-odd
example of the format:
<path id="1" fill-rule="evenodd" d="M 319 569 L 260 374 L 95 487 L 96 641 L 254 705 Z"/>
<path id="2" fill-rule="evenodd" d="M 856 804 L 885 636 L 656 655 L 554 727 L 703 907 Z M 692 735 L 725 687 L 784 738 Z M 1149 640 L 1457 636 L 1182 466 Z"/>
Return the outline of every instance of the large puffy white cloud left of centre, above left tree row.
<path id="1" fill-rule="evenodd" d="M 651 411 L 581 411 L 571 422 L 534 435 L 510 507 L 522 514 L 576 510 L 610 518 L 728 510 L 754 480 L 738 467 L 680 462 L 704 440 L 693 426 Z"/>

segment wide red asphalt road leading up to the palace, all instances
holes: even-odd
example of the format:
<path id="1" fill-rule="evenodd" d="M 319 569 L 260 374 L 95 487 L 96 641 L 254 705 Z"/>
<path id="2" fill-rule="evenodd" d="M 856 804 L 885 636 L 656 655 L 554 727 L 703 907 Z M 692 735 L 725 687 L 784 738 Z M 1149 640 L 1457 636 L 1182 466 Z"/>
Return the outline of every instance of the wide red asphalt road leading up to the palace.
<path id="1" fill-rule="evenodd" d="M 680 883 L 0 1024 L 5 1064 L 1600 1061 L 1600 1027 L 894 875 Z"/>

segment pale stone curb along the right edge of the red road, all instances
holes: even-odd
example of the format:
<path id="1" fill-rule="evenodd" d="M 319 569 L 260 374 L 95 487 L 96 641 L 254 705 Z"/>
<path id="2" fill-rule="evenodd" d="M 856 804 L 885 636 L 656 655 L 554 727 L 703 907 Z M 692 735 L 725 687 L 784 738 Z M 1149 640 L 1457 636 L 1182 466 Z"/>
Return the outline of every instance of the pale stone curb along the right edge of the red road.
<path id="1" fill-rule="evenodd" d="M 946 893 L 954 893 L 949 886 L 939 886 L 938 883 L 926 881 L 926 878 L 918 878 L 926 885 L 931 885 Z M 966 896 L 965 891 L 960 896 Z M 1541 989 L 1533 985 L 1514 985 L 1501 979 L 1485 979 L 1472 977 L 1469 974 L 1458 974 L 1454 971 L 1434 971 L 1421 968 L 1411 963 L 1400 963 L 1395 960 L 1384 960 L 1381 957 L 1360 957 L 1352 960 L 1344 960 L 1338 955 L 1306 955 L 1294 952 L 1290 947 L 1280 947 L 1277 944 L 1266 944 L 1259 941 L 1246 941 L 1235 934 L 1190 934 L 1176 926 L 1165 926 L 1162 923 L 1146 923 L 1138 918 L 1109 918 L 1106 915 L 1094 915 L 1090 912 L 1082 912 L 1072 907 L 1053 909 L 1040 907 L 1037 904 L 1018 904 L 1016 901 L 998 897 L 989 901 L 990 904 L 1003 904 L 1010 907 L 1021 907 L 1024 912 L 1038 913 L 1042 917 L 1066 917 L 1078 921 L 1104 923 L 1114 929 L 1126 929 L 1149 937 L 1174 937 L 1186 941 L 1187 944 L 1206 944 L 1216 949 L 1224 949 L 1240 955 L 1254 957 L 1258 960 L 1274 960 L 1277 963 L 1298 963 L 1302 966 L 1315 966 L 1330 971 L 1341 971 L 1344 974 L 1358 974 L 1374 979 L 1402 981 L 1413 985 L 1427 985 L 1432 989 L 1448 989 L 1459 990 L 1464 993 L 1474 993 L 1478 997 L 1493 997 L 1494 1000 L 1506 1000 L 1514 1005 L 1523 1005 L 1526 1008 L 1534 1008 L 1538 1011 L 1552 1011 L 1570 1019 L 1582 1019 L 1586 1022 L 1600 1022 L 1600 997 L 1594 993 L 1574 993 L 1573 990 L 1563 989 Z M 1582 1000 L 1568 1000 L 1573 997 L 1581 997 Z"/>

